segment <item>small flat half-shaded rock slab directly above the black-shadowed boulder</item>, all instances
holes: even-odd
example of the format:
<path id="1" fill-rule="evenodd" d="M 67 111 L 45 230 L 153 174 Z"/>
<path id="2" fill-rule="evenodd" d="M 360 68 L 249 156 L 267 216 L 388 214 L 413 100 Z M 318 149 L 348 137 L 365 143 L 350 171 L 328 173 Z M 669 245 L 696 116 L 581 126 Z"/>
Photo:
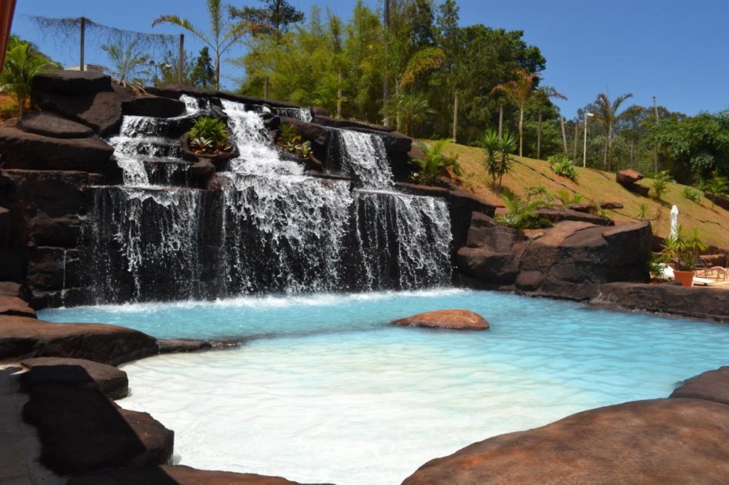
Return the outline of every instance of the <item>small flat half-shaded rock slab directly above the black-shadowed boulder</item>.
<path id="1" fill-rule="evenodd" d="M 109 399 L 122 399 L 129 394 L 125 371 L 93 360 L 38 357 L 20 363 L 30 369 L 20 376 L 20 385 L 26 390 L 36 385 L 62 384 L 98 389 Z"/>

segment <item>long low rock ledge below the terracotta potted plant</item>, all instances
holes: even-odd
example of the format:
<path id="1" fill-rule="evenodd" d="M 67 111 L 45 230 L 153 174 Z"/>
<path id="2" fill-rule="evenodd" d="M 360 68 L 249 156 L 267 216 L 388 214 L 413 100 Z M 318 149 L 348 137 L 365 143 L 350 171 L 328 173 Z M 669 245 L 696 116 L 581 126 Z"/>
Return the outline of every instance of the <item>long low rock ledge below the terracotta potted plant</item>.
<path id="1" fill-rule="evenodd" d="M 595 302 L 625 309 L 729 321 L 729 291 L 717 288 L 610 283 L 601 286 Z"/>

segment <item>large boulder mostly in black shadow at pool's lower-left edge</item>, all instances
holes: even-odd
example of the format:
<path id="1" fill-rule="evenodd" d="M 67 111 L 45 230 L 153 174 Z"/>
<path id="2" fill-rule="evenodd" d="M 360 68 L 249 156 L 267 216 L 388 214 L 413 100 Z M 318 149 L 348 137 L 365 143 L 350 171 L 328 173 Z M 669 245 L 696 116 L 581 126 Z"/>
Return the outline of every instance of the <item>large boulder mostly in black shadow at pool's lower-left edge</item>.
<path id="1" fill-rule="evenodd" d="M 43 385 L 30 396 L 23 419 L 38 428 L 41 462 L 55 473 L 164 465 L 171 459 L 171 430 L 147 413 L 120 409 L 98 390 Z"/>

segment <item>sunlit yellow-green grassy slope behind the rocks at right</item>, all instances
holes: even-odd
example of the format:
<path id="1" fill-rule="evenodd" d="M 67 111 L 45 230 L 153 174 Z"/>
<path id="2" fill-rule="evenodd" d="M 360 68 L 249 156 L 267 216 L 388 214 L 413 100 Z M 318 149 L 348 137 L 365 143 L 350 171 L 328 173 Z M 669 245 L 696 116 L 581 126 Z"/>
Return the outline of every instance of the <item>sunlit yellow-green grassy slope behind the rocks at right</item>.
<path id="1" fill-rule="evenodd" d="M 491 188 L 491 177 L 488 176 L 481 159 L 483 151 L 469 146 L 449 143 L 445 154 L 457 154 L 459 163 L 464 169 L 461 183 L 464 189 L 482 197 L 488 202 L 502 205 L 502 200 Z M 688 200 L 683 195 L 685 186 L 668 184 L 662 200 L 655 200 L 651 189 L 650 197 L 641 197 L 628 192 L 615 181 L 615 173 L 602 172 L 592 168 L 577 167 L 577 182 L 557 176 L 550 170 L 547 162 L 524 157 L 515 157 L 512 173 L 504 176 L 504 186 L 517 194 L 526 194 L 530 187 L 544 186 L 547 192 L 555 194 L 560 189 L 569 189 L 582 194 L 583 202 L 620 202 L 623 209 L 608 210 L 607 215 L 615 219 L 616 224 L 639 221 L 639 205 L 648 205 L 647 221 L 650 221 L 653 233 L 662 237 L 668 235 L 670 229 L 671 206 L 679 208 L 679 223 L 685 229 L 700 227 L 703 238 L 710 244 L 729 246 L 729 212 L 720 207 L 712 208 L 712 202 L 703 196 L 700 202 Z M 651 186 L 652 179 L 644 178 L 640 185 Z"/>

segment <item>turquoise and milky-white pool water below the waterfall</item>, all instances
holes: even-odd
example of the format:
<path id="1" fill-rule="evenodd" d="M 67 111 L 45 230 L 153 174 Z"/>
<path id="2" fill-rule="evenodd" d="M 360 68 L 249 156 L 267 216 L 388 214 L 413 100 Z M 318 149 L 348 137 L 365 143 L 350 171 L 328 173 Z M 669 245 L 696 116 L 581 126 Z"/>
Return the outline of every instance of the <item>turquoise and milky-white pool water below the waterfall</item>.
<path id="1" fill-rule="evenodd" d="M 389 326 L 464 308 L 483 332 Z M 728 363 L 729 326 L 506 293 L 443 290 L 129 304 L 41 312 L 236 350 L 124 366 L 132 395 L 196 468 L 399 484 L 424 462 L 577 411 L 666 397 Z"/>

